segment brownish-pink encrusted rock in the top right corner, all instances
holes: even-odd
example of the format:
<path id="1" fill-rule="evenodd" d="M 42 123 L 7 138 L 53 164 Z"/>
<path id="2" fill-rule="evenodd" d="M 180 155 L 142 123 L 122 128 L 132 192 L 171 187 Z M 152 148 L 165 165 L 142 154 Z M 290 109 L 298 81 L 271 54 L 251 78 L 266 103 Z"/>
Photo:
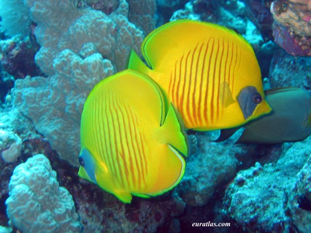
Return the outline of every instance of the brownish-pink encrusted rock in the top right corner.
<path id="1" fill-rule="evenodd" d="M 311 56 L 310 5 L 307 0 L 275 0 L 271 4 L 275 41 L 294 56 Z"/>

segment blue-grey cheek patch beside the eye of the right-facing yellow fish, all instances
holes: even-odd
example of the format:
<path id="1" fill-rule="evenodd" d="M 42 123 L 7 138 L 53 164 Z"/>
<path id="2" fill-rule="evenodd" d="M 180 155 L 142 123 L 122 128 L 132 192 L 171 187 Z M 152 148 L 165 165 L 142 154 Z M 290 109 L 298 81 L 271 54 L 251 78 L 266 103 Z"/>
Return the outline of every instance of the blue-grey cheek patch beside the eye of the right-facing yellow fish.
<path id="1" fill-rule="evenodd" d="M 253 96 L 257 93 L 258 91 L 255 86 L 246 86 L 240 91 L 238 95 L 238 102 L 240 104 L 244 119 L 247 119 L 253 115 L 258 105 L 253 101 Z"/>

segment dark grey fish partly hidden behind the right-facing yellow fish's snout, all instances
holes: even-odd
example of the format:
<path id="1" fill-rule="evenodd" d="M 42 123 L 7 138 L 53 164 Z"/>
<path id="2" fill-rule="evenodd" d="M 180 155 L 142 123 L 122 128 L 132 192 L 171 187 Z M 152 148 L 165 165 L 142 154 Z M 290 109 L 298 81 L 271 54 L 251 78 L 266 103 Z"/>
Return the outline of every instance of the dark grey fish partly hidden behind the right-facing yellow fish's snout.
<path id="1" fill-rule="evenodd" d="M 311 96 L 300 88 L 282 87 L 265 91 L 272 111 L 251 121 L 236 143 L 278 144 L 301 141 L 311 134 Z M 216 142 L 224 141 L 238 128 L 222 130 Z"/>

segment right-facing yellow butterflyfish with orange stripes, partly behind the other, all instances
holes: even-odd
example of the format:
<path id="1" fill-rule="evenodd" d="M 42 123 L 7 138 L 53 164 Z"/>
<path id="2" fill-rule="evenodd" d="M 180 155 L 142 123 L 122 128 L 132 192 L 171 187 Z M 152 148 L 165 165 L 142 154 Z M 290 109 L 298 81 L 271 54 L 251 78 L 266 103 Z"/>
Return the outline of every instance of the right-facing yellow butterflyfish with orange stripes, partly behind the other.
<path id="1" fill-rule="evenodd" d="M 147 74 L 169 96 L 186 128 L 232 128 L 271 111 L 250 44 L 212 23 L 177 20 L 150 33 L 128 67 Z"/>

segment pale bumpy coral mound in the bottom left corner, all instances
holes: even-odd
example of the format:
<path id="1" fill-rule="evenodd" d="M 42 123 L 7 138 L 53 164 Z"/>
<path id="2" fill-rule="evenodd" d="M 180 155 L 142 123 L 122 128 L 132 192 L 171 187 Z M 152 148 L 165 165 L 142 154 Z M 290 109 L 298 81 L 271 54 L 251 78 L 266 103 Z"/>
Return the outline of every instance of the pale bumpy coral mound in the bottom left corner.
<path id="1" fill-rule="evenodd" d="M 18 165 L 9 183 L 7 215 L 27 233 L 76 233 L 79 216 L 69 191 L 60 187 L 56 172 L 43 154 Z"/>

